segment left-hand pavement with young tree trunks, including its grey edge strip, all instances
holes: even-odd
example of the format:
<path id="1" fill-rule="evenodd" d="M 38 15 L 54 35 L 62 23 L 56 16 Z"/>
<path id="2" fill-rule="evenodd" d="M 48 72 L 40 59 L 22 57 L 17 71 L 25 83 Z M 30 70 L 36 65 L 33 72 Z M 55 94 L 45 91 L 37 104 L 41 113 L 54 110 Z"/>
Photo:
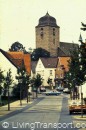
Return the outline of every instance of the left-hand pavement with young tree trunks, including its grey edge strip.
<path id="1" fill-rule="evenodd" d="M 29 97 L 28 97 L 29 98 Z M 22 112 L 23 110 L 26 110 L 27 108 L 31 107 L 31 105 L 35 105 L 37 102 L 41 101 L 43 99 L 43 96 L 41 94 L 38 95 L 38 98 L 36 98 L 36 95 L 34 94 L 30 96 L 30 101 L 27 103 L 26 99 L 23 99 L 22 105 L 20 105 L 20 100 L 14 101 L 10 103 L 10 111 L 8 111 L 8 104 L 4 106 L 0 106 L 0 121 L 9 118 L 12 115 L 15 115 L 17 113 Z"/>

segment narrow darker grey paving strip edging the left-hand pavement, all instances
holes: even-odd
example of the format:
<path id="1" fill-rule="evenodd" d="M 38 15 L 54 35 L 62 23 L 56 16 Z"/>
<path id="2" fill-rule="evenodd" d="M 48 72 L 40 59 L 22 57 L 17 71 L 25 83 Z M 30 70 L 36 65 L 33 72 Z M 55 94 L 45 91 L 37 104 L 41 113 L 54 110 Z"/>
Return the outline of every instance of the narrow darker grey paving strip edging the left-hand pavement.
<path id="1" fill-rule="evenodd" d="M 10 118 L 10 117 L 12 117 L 12 116 L 14 116 L 16 114 L 19 114 L 19 113 L 21 113 L 21 112 L 23 112 L 23 111 L 25 111 L 25 110 L 33 107 L 34 105 L 38 104 L 43 99 L 44 99 L 44 97 L 39 97 L 38 99 L 36 99 L 35 101 L 33 101 L 33 103 L 27 104 L 27 106 L 25 106 L 24 108 L 12 111 L 12 112 L 8 113 L 7 115 L 4 115 L 4 116 L 0 117 L 0 121 L 3 121 L 5 119 L 7 119 L 7 118 Z"/>

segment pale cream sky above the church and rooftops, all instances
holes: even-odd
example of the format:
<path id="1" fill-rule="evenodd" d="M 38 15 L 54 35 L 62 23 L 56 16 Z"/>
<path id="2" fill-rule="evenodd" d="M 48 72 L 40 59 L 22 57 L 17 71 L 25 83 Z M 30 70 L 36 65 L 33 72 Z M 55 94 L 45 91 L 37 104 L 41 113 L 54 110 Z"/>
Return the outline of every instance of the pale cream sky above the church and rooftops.
<path id="1" fill-rule="evenodd" d="M 36 47 L 35 26 L 39 18 L 48 13 L 60 26 L 60 41 L 79 44 L 86 32 L 86 0 L 0 0 L 0 48 L 8 51 L 18 41 L 26 49 Z"/>

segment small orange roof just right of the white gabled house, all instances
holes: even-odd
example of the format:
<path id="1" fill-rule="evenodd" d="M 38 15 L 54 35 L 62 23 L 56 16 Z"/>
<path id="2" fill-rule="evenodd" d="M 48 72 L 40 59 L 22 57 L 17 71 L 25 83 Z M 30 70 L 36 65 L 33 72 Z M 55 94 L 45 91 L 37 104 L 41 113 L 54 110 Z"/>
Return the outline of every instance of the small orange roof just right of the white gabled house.
<path id="1" fill-rule="evenodd" d="M 63 66 L 65 68 L 65 71 L 69 70 L 68 61 L 70 60 L 70 57 L 58 57 L 60 66 Z"/>

